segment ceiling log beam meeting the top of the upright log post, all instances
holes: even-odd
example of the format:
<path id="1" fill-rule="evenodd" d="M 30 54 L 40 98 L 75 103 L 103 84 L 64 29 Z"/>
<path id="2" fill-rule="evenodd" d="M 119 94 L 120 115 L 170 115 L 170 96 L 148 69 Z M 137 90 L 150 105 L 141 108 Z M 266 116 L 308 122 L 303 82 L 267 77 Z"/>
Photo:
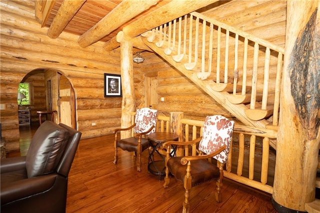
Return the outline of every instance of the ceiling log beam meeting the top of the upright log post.
<path id="1" fill-rule="evenodd" d="M 156 9 L 123 27 L 122 31 L 130 37 L 135 37 L 154 27 L 167 23 L 216 1 L 218 0 L 172 0 L 159 9 Z"/>

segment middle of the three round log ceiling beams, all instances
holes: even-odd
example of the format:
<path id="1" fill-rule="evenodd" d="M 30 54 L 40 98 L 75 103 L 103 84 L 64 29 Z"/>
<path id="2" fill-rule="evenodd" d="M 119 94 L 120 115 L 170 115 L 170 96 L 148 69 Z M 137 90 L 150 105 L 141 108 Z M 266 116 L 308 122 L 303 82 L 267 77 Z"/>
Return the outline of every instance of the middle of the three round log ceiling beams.
<path id="1" fill-rule="evenodd" d="M 88 31 L 79 36 L 78 43 L 81 47 L 87 47 L 108 35 L 114 29 L 121 26 L 126 21 L 140 14 L 159 0 L 123 0 L 106 16 L 97 22 Z"/>

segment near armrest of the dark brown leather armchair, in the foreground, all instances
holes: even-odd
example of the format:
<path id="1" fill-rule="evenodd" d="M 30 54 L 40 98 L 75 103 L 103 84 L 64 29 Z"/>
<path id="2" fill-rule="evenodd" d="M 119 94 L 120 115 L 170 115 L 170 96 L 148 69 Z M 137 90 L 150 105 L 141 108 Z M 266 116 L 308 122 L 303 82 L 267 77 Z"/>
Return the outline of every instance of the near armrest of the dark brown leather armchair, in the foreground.
<path id="1" fill-rule="evenodd" d="M 52 173 L 15 181 L 5 186 L 1 185 L 1 205 L 49 190 L 53 186 L 56 176 L 56 173 Z"/>

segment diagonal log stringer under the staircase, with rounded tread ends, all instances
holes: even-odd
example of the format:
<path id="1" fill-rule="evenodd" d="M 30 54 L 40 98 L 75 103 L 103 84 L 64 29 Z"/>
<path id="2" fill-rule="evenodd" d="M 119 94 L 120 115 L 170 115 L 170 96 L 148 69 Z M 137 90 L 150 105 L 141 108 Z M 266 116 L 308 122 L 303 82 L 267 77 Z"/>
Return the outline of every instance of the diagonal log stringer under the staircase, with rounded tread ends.
<path id="1" fill-rule="evenodd" d="M 154 43 L 148 42 L 145 37 L 141 36 L 141 40 L 145 45 L 147 45 L 150 49 L 156 52 L 159 56 L 161 56 L 164 60 L 174 66 L 177 70 L 179 70 L 182 74 L 184 74 L 188 79 L 190 79 L 194 84 L 200 87 L 204 92 L 206 92 L 209 96 L 211 96 L 216 102 L 218 102 L 221 106 L 223 106 L 226 110 L 228 110 L 234 117 L 236 117 L 243 124 L 251 127 L 258 128 L 266 128 L 266 125 L 269 123 L 265 119 L 259 121 L 253 121 L 249 119 L 244 110 L 247 107 L 244 104 L 231 104 L 226 96 L 229 95 L 227 92 L 217 92 L 214 91 L 210 86 L 209 82 L 206 80 L 198 79 L 196 76 L 196 72 L 194 70 L 186 70 L 183 63 L 176 62 L 172 59 L 171 55 L 166 55 L 161 47 L 157 47 Z M 270 143 L 271 147 L 275 149 L 275 143 Z"/>

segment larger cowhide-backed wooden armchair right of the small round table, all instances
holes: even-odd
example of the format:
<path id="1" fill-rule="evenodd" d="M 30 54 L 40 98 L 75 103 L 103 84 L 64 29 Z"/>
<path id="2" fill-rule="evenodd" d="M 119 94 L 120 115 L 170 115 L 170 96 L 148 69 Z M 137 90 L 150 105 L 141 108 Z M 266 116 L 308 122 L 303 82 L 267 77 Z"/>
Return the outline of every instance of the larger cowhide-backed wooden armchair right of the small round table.
<path id="1" fill-rule="evenodd" d="M 205 118 L 202 137 L 189 142 L 170 141 L 163 143 L 167 154 L 165 158 L 165 178 L 163 187 L 169 185 L 169 173 L 177 180 L 183 182 L 185 189 L 185 199 L 183 202 L 183 212 L 189 212 L 190 204 L 188 201 L 189 190 L 191 187 L 211 181 L 216 181 L 215 200 L 221 202 L 221 186 L 223 178 L 223 166 L 227 161 L 227 155 L 232 139 L 234 121 L 214 115 Z M 185 157 L 171 157 L 171 145 L 191 145 L 198 143 L 199 155 Z M 209 158 L 217 160 L 217 164 L 208 161 Z"/>

